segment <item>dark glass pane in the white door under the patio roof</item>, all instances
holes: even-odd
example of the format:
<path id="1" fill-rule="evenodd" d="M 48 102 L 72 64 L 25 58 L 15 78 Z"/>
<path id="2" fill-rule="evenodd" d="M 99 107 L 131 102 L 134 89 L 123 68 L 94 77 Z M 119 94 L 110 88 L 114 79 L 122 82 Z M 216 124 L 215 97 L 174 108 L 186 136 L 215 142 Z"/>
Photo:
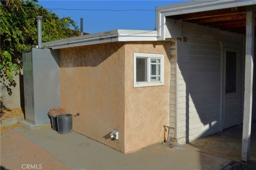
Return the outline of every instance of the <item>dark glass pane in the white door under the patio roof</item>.
<path id="1" fill-rule="evenodd" d="M 226 51 L 226 94 L 236 92 L 236 52 Z"/>

